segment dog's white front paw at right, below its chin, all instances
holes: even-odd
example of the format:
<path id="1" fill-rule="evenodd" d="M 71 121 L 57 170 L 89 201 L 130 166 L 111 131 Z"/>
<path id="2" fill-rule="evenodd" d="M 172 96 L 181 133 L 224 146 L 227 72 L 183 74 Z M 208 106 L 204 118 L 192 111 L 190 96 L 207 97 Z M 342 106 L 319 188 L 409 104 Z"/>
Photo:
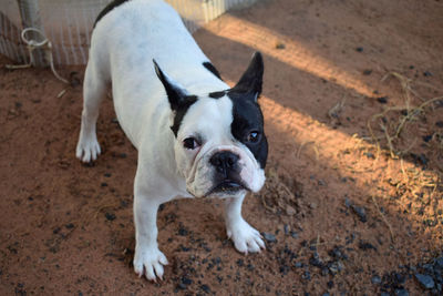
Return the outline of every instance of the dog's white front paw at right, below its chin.
<path id="1" fill-rule="evenodd" d="M 240 253 L 257 253 L 266 248 L 260 233 L 243 218 L 239 222 L 231 223 L 228 226 L 227 234 Z"/>

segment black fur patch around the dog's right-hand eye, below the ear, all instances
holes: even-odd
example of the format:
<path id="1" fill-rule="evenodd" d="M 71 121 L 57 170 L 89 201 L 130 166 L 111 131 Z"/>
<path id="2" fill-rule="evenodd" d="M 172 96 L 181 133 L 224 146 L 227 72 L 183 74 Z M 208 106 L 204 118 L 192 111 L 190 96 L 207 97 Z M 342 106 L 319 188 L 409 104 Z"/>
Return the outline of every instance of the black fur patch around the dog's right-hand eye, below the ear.
<path id="1" fill-rule="evenodd" d="M 264 116 L 260 106 L 255 102 L 255 94 L 236 92 L 228 93 L 233 101 L 233 123 L 230 132 L 234 137 L 246 145 L 253 152 L 261 169 L 266 166 L 268 159 L 268 141 L 264 131 Z M 256 143 L 248 141 L 251 132 L 258 132 L 260 140 Z"/>

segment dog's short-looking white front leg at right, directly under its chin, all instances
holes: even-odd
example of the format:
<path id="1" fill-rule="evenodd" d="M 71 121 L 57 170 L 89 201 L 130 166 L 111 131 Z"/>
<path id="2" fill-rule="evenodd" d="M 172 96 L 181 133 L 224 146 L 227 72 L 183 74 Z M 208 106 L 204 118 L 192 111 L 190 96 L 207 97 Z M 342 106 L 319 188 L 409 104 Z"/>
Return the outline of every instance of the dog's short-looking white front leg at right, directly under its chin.
<path id="1" fill-rule="evenodd" d="M 241 197 L 229 197 L 225 200 L 225 223 L 229 238 L 233 239 L 238 252 L 247 254 L 260 252 L 265 248 L 260 233 L 250 226 L 241 217 Z"/>

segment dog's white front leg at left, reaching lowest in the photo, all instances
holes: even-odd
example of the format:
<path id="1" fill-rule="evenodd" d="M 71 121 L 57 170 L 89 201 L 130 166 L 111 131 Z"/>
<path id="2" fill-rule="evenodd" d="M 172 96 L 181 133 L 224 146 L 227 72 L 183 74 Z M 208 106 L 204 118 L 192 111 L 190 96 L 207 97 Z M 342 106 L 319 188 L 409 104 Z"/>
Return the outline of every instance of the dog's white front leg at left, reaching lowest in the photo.
<path id="1" fill-rule="evenodd" d="M 136 182 L 137 183 L 137 182 Z M 135 255 L 134 271 L 150 280 L 163 278 L 163 265 L 167 265 L 166 256 L 157 244 L 157 210 L 162 201 L 135 185 L 134 221 Z"/>

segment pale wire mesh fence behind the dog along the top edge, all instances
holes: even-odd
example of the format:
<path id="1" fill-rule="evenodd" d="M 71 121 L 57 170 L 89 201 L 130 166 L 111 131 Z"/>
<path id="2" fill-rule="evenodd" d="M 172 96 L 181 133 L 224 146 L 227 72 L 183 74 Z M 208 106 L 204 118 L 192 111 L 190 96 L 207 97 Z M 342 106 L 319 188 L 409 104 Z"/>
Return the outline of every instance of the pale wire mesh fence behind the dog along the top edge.
<path id="1" fill-rule="evenodd" d="M 29 63 L 28 45 L 21 33 L 37 28 L 51 41 L 54 64 L 85 64 L 92 27 L 112 0 L 0 0 L 0 54 L 17 63 Z M 166 0 L 193 33 L 227 10 L 256 0 Z M 28 39 L 41 42 L 32 33 Z M 37 63 L 44 57 L 34 55 Z"/>

